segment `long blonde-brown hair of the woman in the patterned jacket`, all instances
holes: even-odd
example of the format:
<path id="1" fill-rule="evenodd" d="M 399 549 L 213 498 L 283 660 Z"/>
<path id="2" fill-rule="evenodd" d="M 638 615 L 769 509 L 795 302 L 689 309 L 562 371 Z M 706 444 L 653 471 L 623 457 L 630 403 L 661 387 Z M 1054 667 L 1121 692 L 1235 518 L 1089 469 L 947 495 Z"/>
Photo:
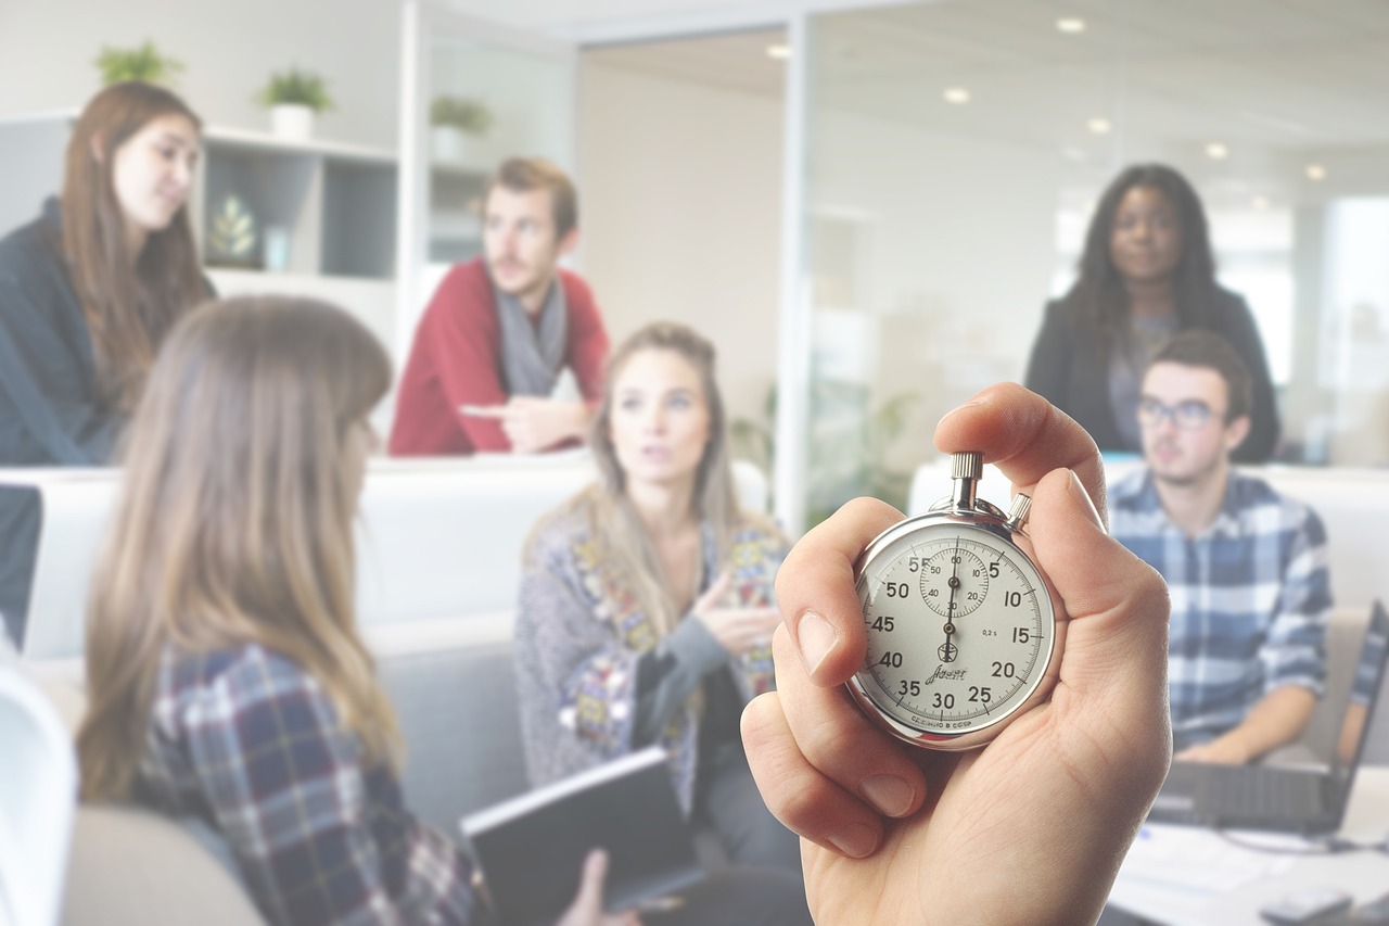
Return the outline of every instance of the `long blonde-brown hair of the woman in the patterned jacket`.
<path id="1" fill-rule="evenodd" d="M 675 628 L 681 606 L 674 590 L 664 581 L 656 545 L 626 495 L 626 474 L 617 459 L 608 431 L 613 424 L 613 384 L 635 355 L 644 350 L 669 350 L 683 357 L 699 373 L 704 405 L 708 409 L 708 444 L 694 474 L 693 514 L 708 521 L 714 531 L 718 563 L 728 562 L 733 531 L 747 521 L 739 510 L 733 469 L 728 453 L 728 420 L 724 396 L 715 378 L 715 350 L 693 328 L 669 321 L 649 324 L 629 336 L 608 363 L 607 388 L 593 419 L 589 444 L 597 462 L 599 481 L 574 501 L 586 510 L 597 548 L 626 576 L 632 592 L 651 626 L 661 635 Z"/>

